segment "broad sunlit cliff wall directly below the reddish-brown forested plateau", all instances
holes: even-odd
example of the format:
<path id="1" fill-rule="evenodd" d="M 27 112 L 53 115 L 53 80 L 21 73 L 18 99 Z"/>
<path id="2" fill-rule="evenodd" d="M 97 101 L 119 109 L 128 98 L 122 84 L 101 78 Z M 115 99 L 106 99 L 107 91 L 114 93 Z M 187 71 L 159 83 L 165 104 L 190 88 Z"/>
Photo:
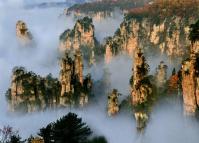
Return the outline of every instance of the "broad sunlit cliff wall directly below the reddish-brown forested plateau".
<path id="1" fill-rule="evenodd" d="M 192 20 L 186 20 L 174 16 L 155 23 L 147 17 L 126 17 L 105 47 L 111 49 L 113 56 L 122 52 L 132 56 L 135 49 L 141 47 L 146 53 L 158 52 L 171 59 L 182 59 L 190 52 L 187 47 L 190 45 L 188 34 Z M 114 53 L 114 49 L 118 52 Z M 108 55 L 111 55 L 109 50 L 105 57 Z"/>

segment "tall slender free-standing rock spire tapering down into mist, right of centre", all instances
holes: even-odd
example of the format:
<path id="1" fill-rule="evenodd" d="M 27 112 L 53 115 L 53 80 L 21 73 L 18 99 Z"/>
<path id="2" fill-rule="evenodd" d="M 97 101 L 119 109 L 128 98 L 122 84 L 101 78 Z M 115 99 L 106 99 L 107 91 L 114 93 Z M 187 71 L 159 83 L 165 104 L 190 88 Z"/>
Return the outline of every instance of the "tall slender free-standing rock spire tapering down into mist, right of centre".
<path id="1" fill-rule="evenodd" d="M 131 78 L 131 97 L 134 108 L 134 116 L 138 131 L 143 131 L 148 121 L 149 99 L 152 95 L 152 85 L 148 76 L 149 65 L 141 49 L 136 49 L 133 65 L 133 76 Z"/>

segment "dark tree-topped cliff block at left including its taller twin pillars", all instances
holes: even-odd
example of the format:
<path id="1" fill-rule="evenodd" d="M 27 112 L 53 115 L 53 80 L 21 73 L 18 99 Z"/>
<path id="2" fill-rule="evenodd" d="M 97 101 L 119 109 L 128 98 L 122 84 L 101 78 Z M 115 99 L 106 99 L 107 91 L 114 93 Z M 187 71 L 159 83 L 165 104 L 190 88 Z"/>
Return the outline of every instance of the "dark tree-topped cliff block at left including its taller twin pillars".
<path id="1" fill-rule="evenodd" d="M 10 111 L 34 112 L 47 108 L 85 106 L 92 89 L 91 76 L 83 79 L 80 51 L 66 54 L 60 61 L 60 80 L 51 75 L 40 77 L 24 68 L 15 68 L 6 93 Z"/>

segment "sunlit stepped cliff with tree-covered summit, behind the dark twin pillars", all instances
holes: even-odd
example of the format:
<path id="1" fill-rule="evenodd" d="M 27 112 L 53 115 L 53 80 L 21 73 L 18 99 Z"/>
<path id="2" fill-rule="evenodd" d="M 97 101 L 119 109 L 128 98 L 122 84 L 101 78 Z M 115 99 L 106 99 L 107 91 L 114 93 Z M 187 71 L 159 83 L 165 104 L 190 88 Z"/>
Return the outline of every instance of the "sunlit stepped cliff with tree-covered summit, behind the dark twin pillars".
<path id="1" fill-rule="evenodd" d="M 77 50 L 81 47 L 94 48 L 96 38 L 94 35 L 94 25 L 92 19 L 84 17 L 76 22 L 72 30 L 66 30 L 60 36 L 61 52 L 66 50 Z"/>

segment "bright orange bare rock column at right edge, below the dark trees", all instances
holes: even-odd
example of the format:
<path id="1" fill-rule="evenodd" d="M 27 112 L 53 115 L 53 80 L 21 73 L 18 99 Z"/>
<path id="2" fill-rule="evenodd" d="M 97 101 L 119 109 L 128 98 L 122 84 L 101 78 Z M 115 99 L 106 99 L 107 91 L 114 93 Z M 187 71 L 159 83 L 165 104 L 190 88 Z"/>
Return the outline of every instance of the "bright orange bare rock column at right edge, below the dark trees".
<path id="1" fill-rule="evenodd" d="M 184 112 L 186 115 L 195 115 L 199 105 L 199 57 L 191 54 L 182 64 L 182 90 Z"/>

